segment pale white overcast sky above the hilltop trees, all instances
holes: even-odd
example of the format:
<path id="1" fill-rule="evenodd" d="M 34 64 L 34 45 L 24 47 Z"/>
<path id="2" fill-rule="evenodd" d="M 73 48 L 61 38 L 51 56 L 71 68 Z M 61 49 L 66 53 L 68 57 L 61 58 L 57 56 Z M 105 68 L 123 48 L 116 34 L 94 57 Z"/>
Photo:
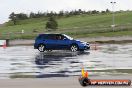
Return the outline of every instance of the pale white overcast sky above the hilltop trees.
<path id="1" fill-rule="evenodd" d="M 8 21 L 11 12 L 111 10 L 111 1 L 117 2 L 115 10 L 132 10 L 132 0 L 0 0 L 0 23 Z"/>

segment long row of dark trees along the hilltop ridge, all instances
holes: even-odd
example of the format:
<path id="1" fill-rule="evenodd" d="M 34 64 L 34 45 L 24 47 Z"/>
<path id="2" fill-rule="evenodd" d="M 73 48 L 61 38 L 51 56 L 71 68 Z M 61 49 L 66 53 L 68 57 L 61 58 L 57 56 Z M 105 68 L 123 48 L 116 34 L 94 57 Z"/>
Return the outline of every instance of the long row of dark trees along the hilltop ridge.
<path id="1" fill-rule="evenodd" d="M 12 12 L 9 15 L 9 19 L 11 20 L 25 20 L 25 19 L 30 19 L 30 18 L 40 18 L 40 17 L 51 17 L 51 16 L 56 16 L 56 17 L 69 17 L 69 16 L 74 16 L 74 15 L 80 15 L 80 14 L 99 14 L 99 13 L 109 13 L 110 10 L 106 9 L 106 11 L 97 11 L 97 10 L 92 10 L 92 11 L 83 11 L 81 9 L 78 10 L 72 10 L 72 11 L 59 11 L 58 13 L 56 12 L 31 12 L 30 14 L 25 14 L 25 13 L 14 13 Z"/>

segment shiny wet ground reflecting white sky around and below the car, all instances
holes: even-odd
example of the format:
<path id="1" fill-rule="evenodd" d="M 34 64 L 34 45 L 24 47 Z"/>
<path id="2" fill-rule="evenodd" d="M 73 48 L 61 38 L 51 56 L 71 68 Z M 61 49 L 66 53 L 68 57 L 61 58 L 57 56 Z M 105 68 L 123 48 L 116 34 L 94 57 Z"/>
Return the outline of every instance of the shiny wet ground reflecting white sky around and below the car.
<path id="1" fill-rule="evenodd" d="M 81 64 L 89 75 L 132 74 L 132 44 L 103 44 L 86 52 L 40 53 L 32 46 L 0 47 L 0 78 L 68 77 L 81 74 Z"/>

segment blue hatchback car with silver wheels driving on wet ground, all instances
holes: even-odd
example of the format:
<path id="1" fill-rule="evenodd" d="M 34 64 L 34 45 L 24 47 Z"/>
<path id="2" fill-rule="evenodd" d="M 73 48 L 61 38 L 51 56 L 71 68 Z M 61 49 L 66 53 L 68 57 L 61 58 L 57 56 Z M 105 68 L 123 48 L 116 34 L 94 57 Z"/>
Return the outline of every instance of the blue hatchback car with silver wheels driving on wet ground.
<path id="1" fill-rule="evenodd" d="M 87 42 L 74 40 L 65 34 L 39 34 L 36 37 L 34 49 L 40 52 L 52 50 L 71 50 L 72 52 L 89 50 Z"/>

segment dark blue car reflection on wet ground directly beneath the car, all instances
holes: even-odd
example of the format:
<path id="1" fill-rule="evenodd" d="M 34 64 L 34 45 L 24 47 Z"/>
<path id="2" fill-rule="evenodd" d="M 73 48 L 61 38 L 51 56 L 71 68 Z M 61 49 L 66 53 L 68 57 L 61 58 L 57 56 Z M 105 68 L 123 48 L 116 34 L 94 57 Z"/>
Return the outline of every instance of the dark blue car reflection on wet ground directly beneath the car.
<path id="1" fill-rule="evenodd" d="M 54 52 L 40 52 L 38 55 L 36 55 L 35 57 L 35 63 L 37 65 L 50 65 L 51 62 L 58 62 L 58 61 L 62 61 L 63 59 L 65 59 L 66 57 L 67 60 L 68 59 L 72 59 L 73 62 L 76 62 L 75 59 L 77 59 L 78 56 L 82 56 L 82 55 L 89 55 L 90 52 L 62 52 L 62 51 L 54 51 Z M 75 61 L 74 61 L 75 60 Z M 52 63 L 53 64 L 53 63 Z M 55 65 L 55 63 L 54 63 Z M 42 66 L 41 66 L 42 67 Z"/>

